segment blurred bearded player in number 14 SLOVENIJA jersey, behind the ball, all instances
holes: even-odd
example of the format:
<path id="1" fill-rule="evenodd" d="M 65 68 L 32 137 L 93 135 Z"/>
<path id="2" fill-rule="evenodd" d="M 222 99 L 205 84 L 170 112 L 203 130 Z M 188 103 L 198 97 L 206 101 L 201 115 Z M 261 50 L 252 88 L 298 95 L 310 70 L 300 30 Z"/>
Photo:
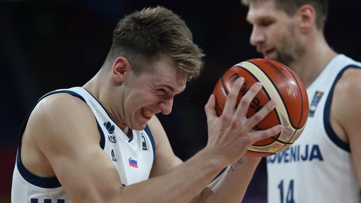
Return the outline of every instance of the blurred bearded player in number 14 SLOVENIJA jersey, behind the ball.
<path id="1" fill-rule="evenodd" d="M 360 202 L 361 64 L 327 44 L 327 0 L 242 0 L 250 42 L 289 66 L 307 87 L 300 138 L 267 157 L 268 202 Z"/>

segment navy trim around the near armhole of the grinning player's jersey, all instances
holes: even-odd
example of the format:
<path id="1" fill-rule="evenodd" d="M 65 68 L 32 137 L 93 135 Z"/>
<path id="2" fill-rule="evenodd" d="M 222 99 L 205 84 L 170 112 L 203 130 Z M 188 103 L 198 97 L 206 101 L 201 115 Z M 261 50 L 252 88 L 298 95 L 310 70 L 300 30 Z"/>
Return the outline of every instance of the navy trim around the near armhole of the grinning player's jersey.
<path id="1" fill-rule="evenodd" d="M 51 178 L 44 178 L 44 177 L 39 177 L 36 176 L 35 174 L 32 174 L 29 170 L 27 170 L 25 168 L 25 166 L 23 165 L 22 161 L 21 161 L 21 156 L 20 156 L 20 149 L 21 149 L 21 138 L 22 135 L 25 131 L 25 127 L 27 122 L 29 121 L 29 117 L 31 112 L 34 110 L 35 106 L 45 97 L 52 95 L 52 94 L 56 94 L 56 93 L 68 93 L 72 96 L 75 96 L 79 99 L 81 99 L 83 102 L 86 103 L 85 99 L 79 95 L 76 92 L 70 91 L 70 90 L 59 90 L 59 91 L 53 91 L 53 92 L 49 92 L 48 94 L 42 96 L 42 98 L 40 98 L 38 100 L 38 102 L 36 102 L 36 104 L 34 105 L 34 107 L 32 107 L 31 111 L 29 112 L 29 114 L 27 115 L 25 121 L 23 122 L 23 125 L 21 126 L 20 129 L 20 133 L 19 133 L 19 147 L 18 147 L 18 154 L 16 157 L 16 161 L 17 161 L 17 167 L 19 170 L 19 173 L 21 174 L 21 176 L 29 183 L 31 183 L 32 185 L 38 186 L 38 187 L 43 187 L 43 188 L 55 188 L 55 187 L 61 187 L 61 184 L 58 180 L 57 177 L 51 177 Z M 95 117 L 95 116 L 94 116 Z M 96 118 L 95 118 L 96 120 Z M 105 135 L 103 133 L 103 130 L 101 130 L 98 121 L 96 120 L 96 123 L 98 125 L 98 129 L 99 129 L 99 133 L 100 133 L 100 147 L 104 150 L 104 146 L 105 146 Z"/>

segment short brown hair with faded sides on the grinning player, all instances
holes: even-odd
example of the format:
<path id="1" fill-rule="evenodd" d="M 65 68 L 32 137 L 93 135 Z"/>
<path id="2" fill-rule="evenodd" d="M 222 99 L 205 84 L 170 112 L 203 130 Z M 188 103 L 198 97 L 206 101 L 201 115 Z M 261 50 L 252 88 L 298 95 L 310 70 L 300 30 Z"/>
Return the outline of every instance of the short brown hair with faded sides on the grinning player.
<path id="1" fill-rule="evenodd" d="M 129 61 L 136 76 L 151 70 L 160 57 L 168 56 L 178 66 L 178 76 L 190 81 L 199 76 L 204 54 L 193 43 L 186 23 L 171 10 L 157 6 L 135 11 L 119 20 L 102 69 L 109 70 L 119 56 Z"/>

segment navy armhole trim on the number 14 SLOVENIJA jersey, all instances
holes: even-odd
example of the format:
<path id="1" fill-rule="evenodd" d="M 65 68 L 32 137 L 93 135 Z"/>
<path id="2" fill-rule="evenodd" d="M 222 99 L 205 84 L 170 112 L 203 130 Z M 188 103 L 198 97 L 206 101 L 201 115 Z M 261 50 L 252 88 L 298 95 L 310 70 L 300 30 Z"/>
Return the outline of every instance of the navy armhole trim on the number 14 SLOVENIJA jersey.
<path id="1" fill-rule="evenodd" d="M 335 131 L 332 129 L 331 124 L 330 124 L 330 111 L 331 111 L 331 102 L 332 102 L 332 95 L 334 94 L 334 90 L 335 90 L 335 86 L 336 83 L 339 81 L 339 79 L 341 78 L 343 72 L 348 69 L 348 68 L 361 68 L 360 66 L 357 65 L 348 65 L 345 68 L 343 68 L 339 74 L 336 76 L 334 83 L 332 84 L 331 90 L 329 92 L 329 95 L 327 96 L 327 100 L 326 100 L 326 104 L 325 104 L 325 109 L 323 110 L 323 124 L 325 126 L 325 130 L 327 135 L 329 136 L 329 138 L 331 139 L 332 142 L 334 142 L 337 146 L 339 146 L 340 148 L 344 149 L 345 151 L 351 152 L 350 151 L 350 146 L 348 143 L 342 141 L 335 133 Z"/>

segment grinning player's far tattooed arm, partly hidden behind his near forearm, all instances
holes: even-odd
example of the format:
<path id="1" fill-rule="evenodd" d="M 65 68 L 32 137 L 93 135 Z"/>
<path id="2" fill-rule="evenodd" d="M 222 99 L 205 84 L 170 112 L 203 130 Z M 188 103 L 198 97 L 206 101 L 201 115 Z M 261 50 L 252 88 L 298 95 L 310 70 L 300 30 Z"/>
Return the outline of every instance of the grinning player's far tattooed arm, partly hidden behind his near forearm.
<path id="1" fill-rule="evenodd" d="M 212 101 L 208 102 L 206 108 L 214 109 L 214 103 L 212 104 Z M 270 106 L 266 108 L 271 109 Z M 266 108 L 262 113 L 268 111 Z M 151 172 L 151 176 L 156 177 L 170 171 L 172 168 L 181 164 L 182 161 L 174 155 L 168 138 L 158 119 L 153 117 L 152 120 L 148 122 L 148 125 L 156 140 L 156 158 Z M 245 190 L 259 161 L 260 158 L 249 156 L 244 156 L 242 159 L 235 161 L 223 174 L 197 194 L 191 202 L 239 203 L 244 196 Z"/>

